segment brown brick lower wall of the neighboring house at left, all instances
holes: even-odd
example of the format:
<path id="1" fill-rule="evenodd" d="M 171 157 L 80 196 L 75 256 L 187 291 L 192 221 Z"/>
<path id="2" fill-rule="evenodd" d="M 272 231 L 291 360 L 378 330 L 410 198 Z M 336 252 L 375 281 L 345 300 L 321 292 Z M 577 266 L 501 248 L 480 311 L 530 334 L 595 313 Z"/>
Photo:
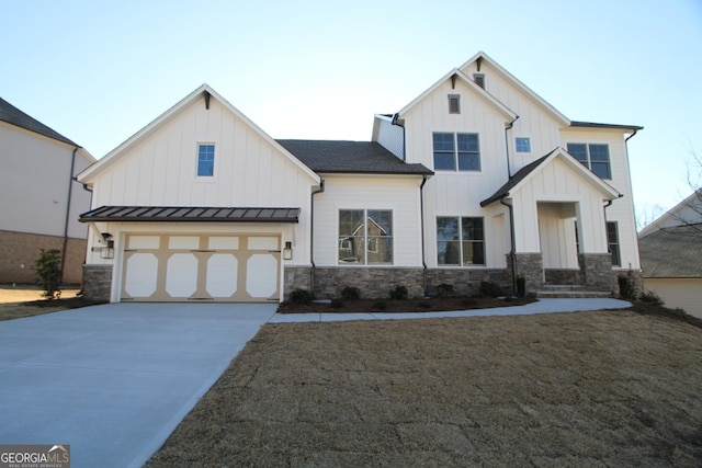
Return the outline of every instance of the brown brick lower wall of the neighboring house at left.
<path id="1" fill-rule="evenodd" d="M 86 239 L 68 238 L 63 283 L 80 284 L 86 261 Z M 34 262 L 39 249 L 64 249 L 60 236 L 0 231 L 0 283 L 34 284 Z M 22 267 L 24 265 L 24 267 Z"/>

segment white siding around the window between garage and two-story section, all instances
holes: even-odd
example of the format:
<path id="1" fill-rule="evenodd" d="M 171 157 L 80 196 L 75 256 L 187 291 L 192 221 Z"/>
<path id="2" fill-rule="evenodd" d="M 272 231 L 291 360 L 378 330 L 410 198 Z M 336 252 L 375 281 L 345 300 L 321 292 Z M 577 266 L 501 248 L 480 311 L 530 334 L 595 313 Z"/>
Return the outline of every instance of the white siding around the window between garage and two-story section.
<path id="1" fill-rule="evenodd" d="M 339 266 L 339 210 L 393 212 L 393 264 L 421 267 L 421 227 L 417 176 L 325 175 L 326 189 L 315 196 L 315 264 Z M 343 265 L 359 267 L 359 265 Z"/>

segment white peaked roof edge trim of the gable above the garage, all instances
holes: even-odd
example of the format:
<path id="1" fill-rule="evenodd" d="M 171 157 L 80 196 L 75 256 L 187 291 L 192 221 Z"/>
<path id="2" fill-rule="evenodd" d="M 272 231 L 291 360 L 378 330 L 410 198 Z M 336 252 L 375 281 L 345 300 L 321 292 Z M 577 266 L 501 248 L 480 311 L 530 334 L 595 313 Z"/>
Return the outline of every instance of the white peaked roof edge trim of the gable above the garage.
<path id="1" fill-rule="evenodd" d="M 215 90 L 213 90 L 207 84 L 202 84 L 195 91 L 190 93 L 183 100 L 181 100 L 178 104 L 166 111 L 163 114 L 158 116 L 154 122 L 148 124 L 146 127 L 141 128 L 129 139 L 124 141 L 122 145 L 110 151 L 104 158 L 100 159 L 97 163 L 92 164 L 90 168 L 86 169 L 78 175 L 78 180 L 84 182 L 88 178 L 97 174 L 103 169 L 107 168 L 114 161 L 120 159 L 120 157 L 127 152 L 129 148 L 140 142 L 144 138 L 151 135 L 157 129 L 161 128 L 163 125 L 167 125 L 168 122 L 178 115 L 181 111 L 188 107 L 192 102 L 197 101 L 204 96 L 205 102 L 210 103 L 211 99 L 217 100 L 222 105 L 224 105 L 229 112 L 236 115 L 237 118 L 241 119 L 247 126 L 253 129 L 259 136 L 270 142 L 273 147 L 278 148 L 283 155 L 285 155 L 295 165 L 297 165 L 301 170 L 306 172 L 310 178 L 315 181 L 319 182 L 319 176 L 313 172 L 308 167 L 306 167 L 299 159 L 293 157 L 285 148 L 280 146 L 273 138 L 271 138 L 265 132 L 263 132 L 258 125 L 251 122 L 246 115 L 244 115 L 238 109 L 231 105 L 227 100 L 220 96 Z"/>

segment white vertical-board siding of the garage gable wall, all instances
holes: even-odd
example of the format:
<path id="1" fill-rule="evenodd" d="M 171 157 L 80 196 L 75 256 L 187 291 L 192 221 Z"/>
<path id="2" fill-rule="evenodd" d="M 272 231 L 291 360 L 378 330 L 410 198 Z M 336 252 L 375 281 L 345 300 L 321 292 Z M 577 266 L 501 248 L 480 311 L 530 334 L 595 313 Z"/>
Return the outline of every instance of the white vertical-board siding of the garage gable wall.
<path id="1" fill-rule="evenodd" d="M 214 176 L 196 175 L 197 145 L 215 145 Z M 309 264 L 309 198 L 317 182 L 305 173 L 283 150 L 263 138 L 217 100 L 210 110 L 202 100 L 173 115 L 166 125 L 155 128 L 106 170 L 98 172 L 93 207 L 126 206 L 223 206 L 223 207 L 299 207 L 299 222 L 276 225 L 290 230 L 284 240 L 293 241 L 294 261 Z M 191 230 L 186 224 L 168 225 L 171 233 Z M 218 230 L 218 224 L 200 224 L 199 233 Z M 139 224 L 138 226 L 141 226 Z M 146 224 L 144 225 L 146 226 Z M 160 225 L 161 229 L 163 225 Z M 260 230 L 250 224 L 228 229 Z M 127 232 L 132 227 L 99 222 L 102 232 Z M 135 225 L 136 227 L 136 225 Z M 270 229 L 265 228 L 265 231 Z M 102 247 L 98 233 L 90 247 Z M 89 247 L 89 251 L 91 250 Z M 115 244 L 115 250 L 118 244 Z M 90 254 L 89 263 L 113 263 Z M 117 262 L 114 262 L 117 264 Z"/>

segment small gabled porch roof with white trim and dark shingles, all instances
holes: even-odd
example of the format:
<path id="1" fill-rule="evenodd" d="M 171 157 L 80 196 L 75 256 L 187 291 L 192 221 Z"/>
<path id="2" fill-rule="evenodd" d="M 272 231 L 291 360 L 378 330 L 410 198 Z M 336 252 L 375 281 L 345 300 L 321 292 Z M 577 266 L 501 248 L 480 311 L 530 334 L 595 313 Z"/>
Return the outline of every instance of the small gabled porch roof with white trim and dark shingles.
<path id="1" fill-rule="evenodd" d="M 499 201 L 500 198 L 508 197 L 511 192 L 522 186 L 534 173 L 537 172 L 540 168 L 545 167 L 550 161 L 553 161 L 556 158 L 561 158 L 561 160 L 568 163 L 571 169 L 579 172 L 582 178 L 598 187 L 609 199 L 614 199 L 621 196 L 621 194 L 616 192 L 611 185 L 593 174 L 589 169 L 582 165 L 580 161 L 575 159 L 568 151 L 561 147 L 557 147 L 550 153 L 539 158 L 534 162 L 526 164 L 522 169 L 517 171 L 517 173 L 512 175 L 512 178 L 507 181 L 505 185 L 499 187 L 497 192 L 495 192 L 489 198 L 480 202 L 480 206 L 485 207 L 491 203 Z"/>

